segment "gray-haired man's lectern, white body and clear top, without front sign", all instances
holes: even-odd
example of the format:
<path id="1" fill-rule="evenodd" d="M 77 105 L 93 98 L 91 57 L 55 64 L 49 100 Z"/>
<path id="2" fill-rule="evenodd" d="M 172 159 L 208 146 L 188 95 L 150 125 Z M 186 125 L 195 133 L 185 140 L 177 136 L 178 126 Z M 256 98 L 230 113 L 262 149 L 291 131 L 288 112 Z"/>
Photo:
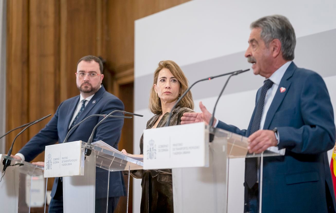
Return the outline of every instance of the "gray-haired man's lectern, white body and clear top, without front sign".
<path id="1" fill-rule="evenodd" d="M 247 155 L 246 137 L 217 128 L 210 132 L 214 134 L 214 140 L 209 143 L 209 167 L 172 169 L 175 213 L 243 212 L 245 158 L 261 157 L 262 177 L 262 158 L 284 155 L 284 150 L 283 154 L 265 151 Z M 262 189 L 262 178 L 259 186 Z"/>

